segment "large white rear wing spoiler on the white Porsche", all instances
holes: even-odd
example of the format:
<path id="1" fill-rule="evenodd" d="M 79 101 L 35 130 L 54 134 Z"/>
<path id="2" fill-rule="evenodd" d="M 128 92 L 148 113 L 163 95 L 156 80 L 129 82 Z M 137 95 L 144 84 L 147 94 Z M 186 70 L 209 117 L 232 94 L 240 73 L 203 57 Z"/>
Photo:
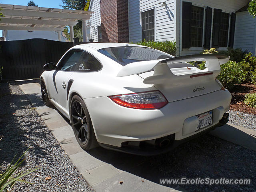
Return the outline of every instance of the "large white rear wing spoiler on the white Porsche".
<path id="1" fill-rule="evenodd" d="M 127 64 L 120 70 L 117 77 L 129 76 L 134 74 L 141 74 L 154 69 L 153 76 L 165 76 L 174 75 L 168 64 L 180 63 L 180 62 L 190 62 L 190 61 L 206 61 L 205 71 L 218 71 L 220 70 L 220 65 L 228 62 L 230 57 L 223 54 L 195 54 L 188 56 L 179 56 L 162 60 L 150 60 L 150 61 L 140 61 Z M 149 79 L 148 79 L 149 80 Z"/>

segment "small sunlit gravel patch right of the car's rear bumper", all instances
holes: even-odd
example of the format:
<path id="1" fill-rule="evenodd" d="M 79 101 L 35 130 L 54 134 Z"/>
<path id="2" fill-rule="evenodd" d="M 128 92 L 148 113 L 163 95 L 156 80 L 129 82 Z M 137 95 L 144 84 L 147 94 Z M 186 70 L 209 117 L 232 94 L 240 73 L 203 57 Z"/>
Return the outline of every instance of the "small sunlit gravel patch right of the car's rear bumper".
<path id="1" fill-rule="evenodd" d="M 256 130 L 256 116 L 240 111 L 229 110 L 229 123 Z"/>

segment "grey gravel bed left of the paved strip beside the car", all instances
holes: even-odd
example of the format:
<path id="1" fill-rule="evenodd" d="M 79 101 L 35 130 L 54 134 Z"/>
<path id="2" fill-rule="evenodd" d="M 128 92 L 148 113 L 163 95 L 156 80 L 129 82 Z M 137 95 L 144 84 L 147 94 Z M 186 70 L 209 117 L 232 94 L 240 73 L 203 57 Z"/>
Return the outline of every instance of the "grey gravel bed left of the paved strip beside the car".
<path id="1" fill-rule="evenodd" d="M 10 93 L 10 94 L 9 94 Z M 0 84 L 0 171 L 15 154 L 20 157 L 27 148 L 22 170 L 40 168 L 17 182 L 12 191 L 82 192 L 93 191 L 72 164 L 19 86 Z M 52 177 L 46 180 L 47 176 Z"/>

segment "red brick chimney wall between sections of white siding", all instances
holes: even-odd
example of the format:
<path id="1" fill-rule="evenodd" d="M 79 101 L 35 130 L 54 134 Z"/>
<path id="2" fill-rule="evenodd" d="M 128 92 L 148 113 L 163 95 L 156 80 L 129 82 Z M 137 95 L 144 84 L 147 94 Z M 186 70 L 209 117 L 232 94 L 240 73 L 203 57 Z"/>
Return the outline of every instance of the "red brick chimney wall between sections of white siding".
<path id="1" fill-rule="evenodd" d="M 102 42 L 129 42 L 128 0 L 101 0 Z"/>

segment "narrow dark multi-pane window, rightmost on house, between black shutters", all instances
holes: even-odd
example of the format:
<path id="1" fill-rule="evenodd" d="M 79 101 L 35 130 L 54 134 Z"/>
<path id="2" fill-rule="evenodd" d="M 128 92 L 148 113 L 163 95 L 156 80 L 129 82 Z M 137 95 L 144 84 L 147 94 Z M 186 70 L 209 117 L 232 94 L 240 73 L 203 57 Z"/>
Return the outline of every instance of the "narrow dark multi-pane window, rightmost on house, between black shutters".
<path id="1" fill-rule="evenodd" d="M 229 26 L 229 14 L 222 12 L 221 22 L 220 22 L 220 38 L 219 38 L 220 47 L 228 46 L 228 26 Z"/>

